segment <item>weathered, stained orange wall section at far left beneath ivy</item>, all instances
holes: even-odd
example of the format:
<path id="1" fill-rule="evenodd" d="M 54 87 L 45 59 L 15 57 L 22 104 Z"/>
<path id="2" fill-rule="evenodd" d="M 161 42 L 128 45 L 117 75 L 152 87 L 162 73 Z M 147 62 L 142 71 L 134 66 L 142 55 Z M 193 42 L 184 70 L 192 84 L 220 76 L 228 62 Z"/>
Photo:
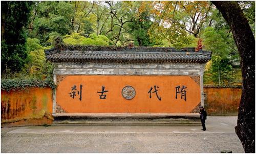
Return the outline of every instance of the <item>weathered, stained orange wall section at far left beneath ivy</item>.
<path id="1" fill-rule="evenodd" d="M 1 91 L 1 120 L 7 125 L 41 125 L 52 122 L 51 88 Z"/>

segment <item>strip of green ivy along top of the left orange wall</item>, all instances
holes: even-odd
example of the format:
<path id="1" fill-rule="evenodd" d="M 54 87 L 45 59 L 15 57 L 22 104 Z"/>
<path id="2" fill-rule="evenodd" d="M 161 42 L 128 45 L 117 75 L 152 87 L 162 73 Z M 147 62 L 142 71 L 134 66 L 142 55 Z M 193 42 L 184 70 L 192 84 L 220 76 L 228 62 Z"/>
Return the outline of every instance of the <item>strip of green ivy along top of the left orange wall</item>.
<path id="1" fill-rule="evenodd" d="M 37 79 L 2 79 L 1 90 L 20 90 L 28 87 L 51 87 L 54 89 L 56 85 L 52 79 L 37 80 Z"/>

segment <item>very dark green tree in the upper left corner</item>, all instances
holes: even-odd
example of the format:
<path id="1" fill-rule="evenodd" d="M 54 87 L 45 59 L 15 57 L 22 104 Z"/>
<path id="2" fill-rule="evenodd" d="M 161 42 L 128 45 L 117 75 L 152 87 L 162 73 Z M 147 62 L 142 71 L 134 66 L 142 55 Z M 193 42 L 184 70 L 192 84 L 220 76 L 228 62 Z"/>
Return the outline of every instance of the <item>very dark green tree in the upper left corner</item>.
<path id="1" fill-rule="evenodd" d="M 1 3 L 1 65 L 2 72 L 19 71 L 28 56 L 24 26 L 28 22 L 32 2 Z"/>

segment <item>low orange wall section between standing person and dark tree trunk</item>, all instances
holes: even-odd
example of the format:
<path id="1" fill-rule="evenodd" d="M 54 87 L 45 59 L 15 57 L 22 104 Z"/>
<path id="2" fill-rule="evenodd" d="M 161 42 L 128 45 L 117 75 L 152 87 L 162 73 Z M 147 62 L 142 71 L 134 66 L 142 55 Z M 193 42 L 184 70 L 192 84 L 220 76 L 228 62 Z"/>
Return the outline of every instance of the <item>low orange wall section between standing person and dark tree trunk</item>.
<path id="1" fill-rule="evenodd" d="M 208 114 L 236 114 L 240 104 L 241 88 L 204 88 L 204 102 Z"/>

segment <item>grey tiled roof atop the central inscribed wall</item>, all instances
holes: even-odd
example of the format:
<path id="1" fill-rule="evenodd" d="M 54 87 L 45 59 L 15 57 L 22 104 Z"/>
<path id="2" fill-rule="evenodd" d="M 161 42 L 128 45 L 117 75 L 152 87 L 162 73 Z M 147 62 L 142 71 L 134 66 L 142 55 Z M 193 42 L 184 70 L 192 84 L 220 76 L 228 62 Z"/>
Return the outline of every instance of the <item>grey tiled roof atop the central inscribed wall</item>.
<path id="1" fill-rule="evenodd" d="M 119 48 L 118 50 L 62 50 L 55 48 L 45 50 L 48 61 L 54 63 L 85 63 L 85 62 L 118 62 L 118 63 L 206 63 L 211 59 L 211 52 L 195 48 L 175 48 L 165 47 L 137 47 Z"/>

